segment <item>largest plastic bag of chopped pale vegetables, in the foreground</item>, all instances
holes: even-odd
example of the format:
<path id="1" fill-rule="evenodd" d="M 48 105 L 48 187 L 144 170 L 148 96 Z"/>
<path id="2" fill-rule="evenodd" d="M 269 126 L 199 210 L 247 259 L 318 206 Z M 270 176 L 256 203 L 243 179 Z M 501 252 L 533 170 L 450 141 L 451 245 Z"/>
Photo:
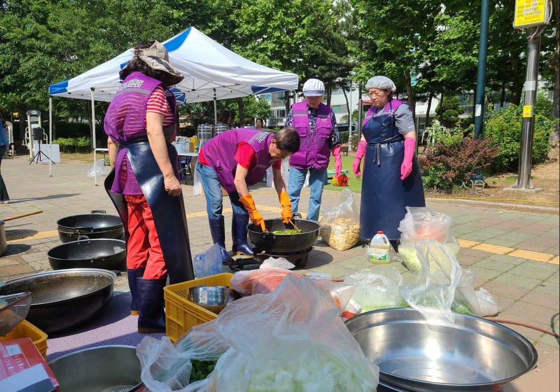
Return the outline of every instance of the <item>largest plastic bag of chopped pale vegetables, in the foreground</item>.
<path id="1" fill-rule="evenodd" d="M 206 323 L 230 346 L 209 377 L 209 390 L 374 391 L 379 368 L 338 311 L 327 290 L 292 274 L 273 292 L 228 305 Z"/>

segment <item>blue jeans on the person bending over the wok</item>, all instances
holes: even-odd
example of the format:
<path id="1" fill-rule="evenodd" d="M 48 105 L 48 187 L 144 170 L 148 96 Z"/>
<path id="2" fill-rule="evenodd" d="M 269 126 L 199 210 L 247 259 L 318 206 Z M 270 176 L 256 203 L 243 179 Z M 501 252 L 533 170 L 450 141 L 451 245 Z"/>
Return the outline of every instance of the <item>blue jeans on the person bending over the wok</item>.
<path id="1" fill-rule="evenodd" d="M 218 175 L 210 166 L 200 165 L 197 162 L 198 175 L 200 177 L 200 184 L 202 189 L 204 189 L 204 197 L 206 198 L 206 213 L 208 214 L 208 219 L 220 219 L 222 216 L 222 188 L 220 188 L 220 179 Z M 247 210 L 243 204 L 239 201 L 239 194 L 237 192 L 232 192 L 229 194 L 231 200 L 231 208 L 234 210 L 234 214 L 238 215 L 248 215 Z"/>

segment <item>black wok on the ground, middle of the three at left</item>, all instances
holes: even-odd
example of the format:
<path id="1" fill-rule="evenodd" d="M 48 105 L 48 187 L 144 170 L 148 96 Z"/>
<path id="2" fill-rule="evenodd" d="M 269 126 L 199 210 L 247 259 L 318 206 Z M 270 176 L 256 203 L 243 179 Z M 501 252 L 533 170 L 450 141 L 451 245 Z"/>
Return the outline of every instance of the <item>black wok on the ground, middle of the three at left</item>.
<path id="1" fill-rule="evenodd" d="M 127 262 L 127 245 L 124 241 L 109 239 L 72 241 L 49 249 L 46 256 L 54 270 L 123 269 Z"/>

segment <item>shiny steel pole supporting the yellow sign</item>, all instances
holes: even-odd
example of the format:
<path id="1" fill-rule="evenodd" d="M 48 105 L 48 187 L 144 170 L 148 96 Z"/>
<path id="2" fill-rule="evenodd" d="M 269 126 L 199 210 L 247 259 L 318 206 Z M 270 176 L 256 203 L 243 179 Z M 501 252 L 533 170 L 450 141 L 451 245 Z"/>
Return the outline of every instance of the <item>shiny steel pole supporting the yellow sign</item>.
<path id="1" fill-rule="evenodd" d="M 525 99 L 523 101 L 523 122 L 521 126 L 521 152 L 519 156 L 519 174 L 512 188 L 534 189 L 531 181 L 531 165 L 533 164 L 533 131 L 535 127 L 536 84 L 539 80 L 540 27 L 529 31 L 527 45 L 527 72 L 525 75 Z"/>

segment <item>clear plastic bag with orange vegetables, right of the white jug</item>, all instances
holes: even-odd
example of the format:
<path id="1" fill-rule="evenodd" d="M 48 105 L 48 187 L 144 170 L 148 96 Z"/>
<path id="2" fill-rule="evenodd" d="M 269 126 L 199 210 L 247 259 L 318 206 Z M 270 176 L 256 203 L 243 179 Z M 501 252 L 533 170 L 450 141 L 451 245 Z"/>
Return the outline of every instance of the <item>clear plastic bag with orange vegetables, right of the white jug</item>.
<path id="1" fill-rule="evenodd" d="M 455 258 L 459 256 L 459 242 L 451 235 L 451 218 L 444 213 L 433 211 L 428 207 L 407 207 L 407 214 L 400 221 L 399 255 L 412 273 L 418 273 L 421 268 L 416 254 L 416 242 L 431 238 L 444 244 L 445 248 Z"/>

